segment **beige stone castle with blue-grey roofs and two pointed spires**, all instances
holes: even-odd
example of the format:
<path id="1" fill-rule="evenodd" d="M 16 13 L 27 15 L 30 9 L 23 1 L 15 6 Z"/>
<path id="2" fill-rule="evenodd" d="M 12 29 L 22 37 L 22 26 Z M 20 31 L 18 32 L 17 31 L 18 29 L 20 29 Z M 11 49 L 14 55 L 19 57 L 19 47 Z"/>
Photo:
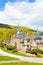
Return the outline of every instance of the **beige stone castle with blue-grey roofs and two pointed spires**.
<path id="1" fill-rule="evenodd" d="M 43 36 L 39 34 L 38 29 L 35 35 L 23 34 L 20 32 L 20 27 L 18 25 L 17 34 L 14 34 L 10 41 L 5 40 L 3 44 L 15 46 L 18 51 L 23 52 L 34 48 L 43 50 Z"/>

